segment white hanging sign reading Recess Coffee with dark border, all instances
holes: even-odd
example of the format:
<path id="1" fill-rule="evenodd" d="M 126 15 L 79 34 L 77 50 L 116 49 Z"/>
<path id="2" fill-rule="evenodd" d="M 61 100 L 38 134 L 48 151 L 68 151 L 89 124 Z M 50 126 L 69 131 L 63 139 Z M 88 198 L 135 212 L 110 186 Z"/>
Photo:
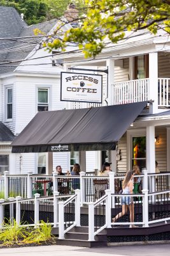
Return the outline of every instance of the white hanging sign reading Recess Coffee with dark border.
<path id="1" fill-rule="evenodd" d="M 102 103 L 102 76 L 61 72 L 60 100 Z"/>

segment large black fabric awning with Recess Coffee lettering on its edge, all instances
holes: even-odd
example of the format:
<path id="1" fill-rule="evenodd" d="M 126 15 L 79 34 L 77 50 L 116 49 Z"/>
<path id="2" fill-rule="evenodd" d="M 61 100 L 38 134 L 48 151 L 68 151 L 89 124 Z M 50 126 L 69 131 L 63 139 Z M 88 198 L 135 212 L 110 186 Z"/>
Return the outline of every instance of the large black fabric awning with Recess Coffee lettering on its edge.
<path id="1" fill-rule="evenodd" d="M 12 152 L 114 150 L 146 102 L 37 113 L 13 141 Z"/>

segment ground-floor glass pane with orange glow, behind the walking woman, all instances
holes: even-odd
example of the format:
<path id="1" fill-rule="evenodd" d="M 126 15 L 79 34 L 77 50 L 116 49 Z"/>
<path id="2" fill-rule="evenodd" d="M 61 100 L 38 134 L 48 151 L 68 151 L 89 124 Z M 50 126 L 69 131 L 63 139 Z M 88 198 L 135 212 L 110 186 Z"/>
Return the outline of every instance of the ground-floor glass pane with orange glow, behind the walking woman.
<path id="1" fill-rule="evenodd" d="M 137 164 L 139 169 L 146 168 L 146 137 L 132 137 L 132 166 Z"/>

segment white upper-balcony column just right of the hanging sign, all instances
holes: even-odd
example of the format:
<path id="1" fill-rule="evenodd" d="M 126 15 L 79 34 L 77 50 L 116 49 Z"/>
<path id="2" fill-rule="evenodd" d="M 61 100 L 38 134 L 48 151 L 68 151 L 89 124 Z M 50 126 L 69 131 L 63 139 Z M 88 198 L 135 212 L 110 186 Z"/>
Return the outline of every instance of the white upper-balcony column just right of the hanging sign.
<path id="1" fill-rule="evenodd" d="M 106 65 L 108 67 L 108 105 L 113 104 L 113 83 L 115 73 L 115 60 L 107 60 Z"/>

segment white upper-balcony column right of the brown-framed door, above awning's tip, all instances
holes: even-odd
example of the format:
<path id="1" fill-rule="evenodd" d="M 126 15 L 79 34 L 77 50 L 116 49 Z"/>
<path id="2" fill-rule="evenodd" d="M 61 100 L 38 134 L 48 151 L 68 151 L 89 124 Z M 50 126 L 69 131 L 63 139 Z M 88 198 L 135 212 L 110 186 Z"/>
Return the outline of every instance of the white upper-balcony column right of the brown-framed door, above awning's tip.
<path id="1" fill-rule="evenodd" d="M 150 113 L 158 112 L 158 54 L 149 54 L 149 100 L 154 100 L 150 105 Z"/>

